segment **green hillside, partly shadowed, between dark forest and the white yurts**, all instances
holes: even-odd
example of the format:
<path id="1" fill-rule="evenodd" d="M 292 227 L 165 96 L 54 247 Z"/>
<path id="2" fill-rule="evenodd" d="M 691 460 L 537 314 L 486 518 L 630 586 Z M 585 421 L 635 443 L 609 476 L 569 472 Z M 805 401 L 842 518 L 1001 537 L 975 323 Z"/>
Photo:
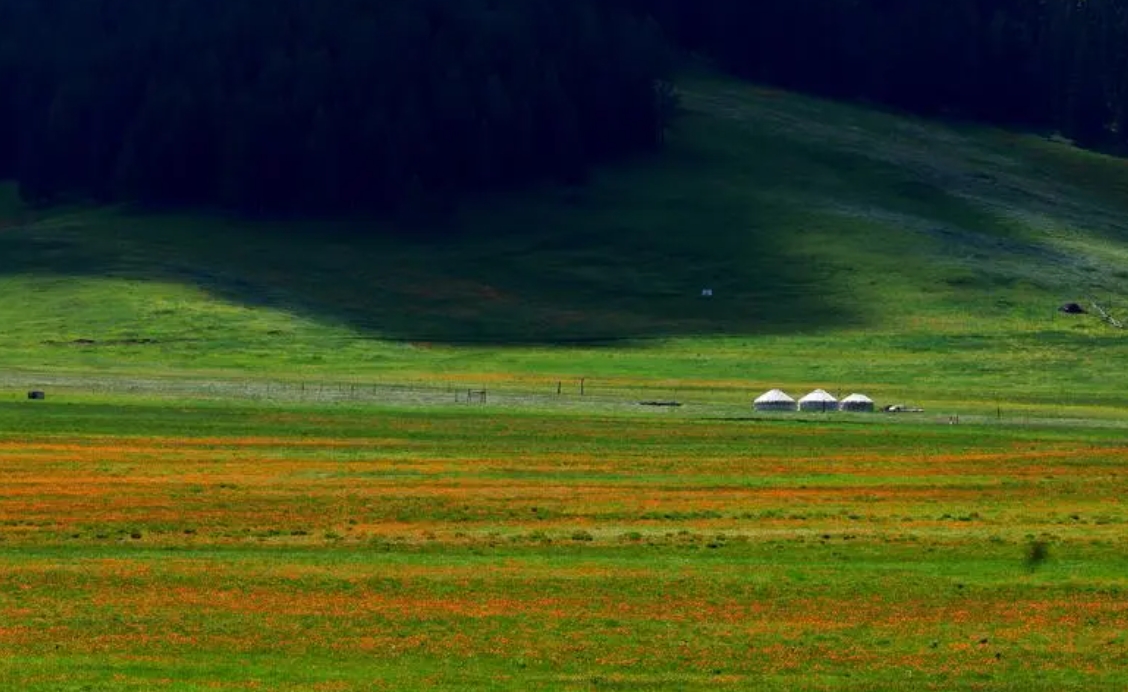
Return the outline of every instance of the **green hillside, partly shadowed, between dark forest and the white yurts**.
<path id="1" fill-rule="evenodd" d="M 1055 312 L 1128 312 L 1128 163 L 711 76 L 681 89 L 664 156 L 464 209 L 453 240 L 32 212 L 6 190 L 0 371 L 1128 405 L 1128 334 Z"/>

